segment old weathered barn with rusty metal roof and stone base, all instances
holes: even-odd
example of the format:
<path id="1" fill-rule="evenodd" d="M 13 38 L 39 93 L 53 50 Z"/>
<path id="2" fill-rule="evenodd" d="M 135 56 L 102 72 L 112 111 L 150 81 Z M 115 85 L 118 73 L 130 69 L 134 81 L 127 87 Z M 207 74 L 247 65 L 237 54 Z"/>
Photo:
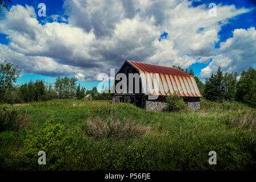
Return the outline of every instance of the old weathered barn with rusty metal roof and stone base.
<path id="1" fill-rule="evenodd" d="M 126 60 L 115 75 L 113 88 L 113 103 L 126 102 L 146 110 L 163 111 L 165 97 L 176 92 L 192 110 L 200 109 L 202 96 L 195 78 L 177 68 Z"/>

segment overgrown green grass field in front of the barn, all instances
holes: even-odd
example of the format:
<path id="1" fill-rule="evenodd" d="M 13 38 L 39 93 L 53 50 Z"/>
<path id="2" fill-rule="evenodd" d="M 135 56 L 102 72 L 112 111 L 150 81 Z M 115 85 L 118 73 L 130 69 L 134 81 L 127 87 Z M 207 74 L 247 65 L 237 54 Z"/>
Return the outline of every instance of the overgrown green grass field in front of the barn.
<path id="1" fill-rule="evenodd" d="M 93 100 L 2 105 L 18 112 L 18 124 L 0 133 L 0 168 L 255 169 L 255 109 L 205 100 L 200 105 L 197 111 L 165 113 Z M 46 151 L 46 165 L 38 164 L 39 151 Z M 216 165 L 208 163 L 209 151 L 217 152 Z"/>

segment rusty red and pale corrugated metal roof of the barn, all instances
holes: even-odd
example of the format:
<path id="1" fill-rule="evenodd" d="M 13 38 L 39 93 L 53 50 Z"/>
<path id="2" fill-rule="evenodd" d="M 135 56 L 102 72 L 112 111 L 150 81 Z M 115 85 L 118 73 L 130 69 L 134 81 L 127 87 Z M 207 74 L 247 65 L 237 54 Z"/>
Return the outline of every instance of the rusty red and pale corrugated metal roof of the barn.
<path id="1" fill-rule="evenodd" d="M 202 97 L 196 85 L 195 78 L 180 69 L 130 60 L 126 61 L 138 69 L 140 74 L 144 74 L 147 86 L 150 83 L 150 85 L 152 84 L 152 88 L 159 88 L 156 89 L 158 93 L 155 91 L 151 92 L 147 88 L 146 94 L 148 95 L 167 96 L 170 94 L 170 91 L 171 93 L 179 93 L 181 97 Z M 159 79 L 156 80 L 156 77 L 159 77 Z"/>

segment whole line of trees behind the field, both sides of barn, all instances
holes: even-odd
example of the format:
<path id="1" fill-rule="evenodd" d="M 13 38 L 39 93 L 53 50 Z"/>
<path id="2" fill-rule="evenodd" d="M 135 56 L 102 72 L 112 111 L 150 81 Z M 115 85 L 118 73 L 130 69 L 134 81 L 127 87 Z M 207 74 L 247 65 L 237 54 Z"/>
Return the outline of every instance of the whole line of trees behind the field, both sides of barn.
<path id="1" fill-rule="evenodd" d="M 195 77 L 196 84 L 204 98 L 210 101 L 238 101 L 249 106 L 256 106 L 256 71 L 250 67 L 247 71 L 223 73 L 218 67 L 213 74 L 202 82 L 195 76 L 192 69 L 183 69 L 173 65 L 181 71 Z M 20 70 L 14 64 L 4 61 L 0 65 L 0 103 L 22 103 L 31 101 L 47 101 L 60 98 L 84 98 L 90 94 L 94 100 L 111 100 L 110 89 L 99 93 L 97 88 L 86 90 L 77 85 L 75 77 L 57 77 L 53 83 L 43 80 L 29 81 L 22 85 L 14 85 Z"/>

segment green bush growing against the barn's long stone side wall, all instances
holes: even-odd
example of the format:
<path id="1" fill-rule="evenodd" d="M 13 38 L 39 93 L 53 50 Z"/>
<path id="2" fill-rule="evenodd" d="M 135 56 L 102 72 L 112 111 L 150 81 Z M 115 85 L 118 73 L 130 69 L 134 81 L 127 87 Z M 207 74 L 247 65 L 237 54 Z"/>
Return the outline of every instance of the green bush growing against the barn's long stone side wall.
<path id="1" fill-rule="evenodd" d="M 167 102 L 166 109 L 168 111 L 187 109 L 187 104 L 185 104 L 185 102 L 183 101 L 183 98 L 181 98 L 177 93 L 170 94 L 170 96 L 167 96 L 166 102 Z"/>

